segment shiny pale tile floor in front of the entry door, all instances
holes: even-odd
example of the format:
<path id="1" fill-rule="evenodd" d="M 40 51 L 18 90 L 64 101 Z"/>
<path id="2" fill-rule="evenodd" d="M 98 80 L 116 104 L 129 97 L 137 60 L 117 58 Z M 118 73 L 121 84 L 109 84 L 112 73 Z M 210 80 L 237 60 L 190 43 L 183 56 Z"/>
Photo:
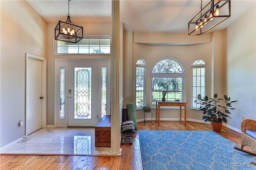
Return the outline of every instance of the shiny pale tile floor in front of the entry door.
<path id="1" fill-rule="evenodd" d="M 95 147 L 94 127 L 67 127 L 39 129 L 0 153 L 107 155 L 109 149 Z"/>

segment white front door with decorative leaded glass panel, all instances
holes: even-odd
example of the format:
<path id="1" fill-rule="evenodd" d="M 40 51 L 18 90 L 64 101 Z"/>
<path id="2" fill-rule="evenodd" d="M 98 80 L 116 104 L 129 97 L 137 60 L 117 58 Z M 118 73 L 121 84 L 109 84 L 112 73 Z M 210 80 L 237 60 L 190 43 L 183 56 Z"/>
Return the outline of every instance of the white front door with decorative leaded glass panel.
<path id="1" fill-rule="evenodd" d="M 68 62 L 68 126 L 97 123 L 97 61 Z"/>

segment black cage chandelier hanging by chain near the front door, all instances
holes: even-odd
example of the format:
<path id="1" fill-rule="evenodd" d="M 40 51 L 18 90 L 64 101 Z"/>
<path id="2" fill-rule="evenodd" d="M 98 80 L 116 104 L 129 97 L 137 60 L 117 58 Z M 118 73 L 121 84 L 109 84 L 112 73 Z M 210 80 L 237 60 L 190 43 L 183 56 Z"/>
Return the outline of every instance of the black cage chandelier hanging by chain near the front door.
<path id="1" fill-rule="evenodd" d="M 68 19 L 66 22 L 58 21 L 55 27 L 55 40 L 69 43 L 78 43 L 83 39 L 83 27 L 74 25 L 70 20 L 68 0 Z"/>

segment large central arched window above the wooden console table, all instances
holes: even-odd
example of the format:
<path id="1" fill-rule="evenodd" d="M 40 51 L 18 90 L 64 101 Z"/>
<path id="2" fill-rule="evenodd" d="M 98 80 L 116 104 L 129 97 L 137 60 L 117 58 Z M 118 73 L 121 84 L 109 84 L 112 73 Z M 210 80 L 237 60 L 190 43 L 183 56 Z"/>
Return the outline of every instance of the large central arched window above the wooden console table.
<path id="1" fill-rule="evenodd" d="M 162 100 L 162 92 L 166 93 L 166 100 L 185 99 L 186 71 L 183 64 L 173 57 L 158 61 L 151 71 L 152 105 L 156 100 Z"/>

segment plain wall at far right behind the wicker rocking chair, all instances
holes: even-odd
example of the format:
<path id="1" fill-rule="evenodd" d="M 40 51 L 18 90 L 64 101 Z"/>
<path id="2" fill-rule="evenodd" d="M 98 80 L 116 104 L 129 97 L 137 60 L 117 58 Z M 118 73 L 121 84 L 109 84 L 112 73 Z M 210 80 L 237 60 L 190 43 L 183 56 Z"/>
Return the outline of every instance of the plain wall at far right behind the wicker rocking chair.
<path id="1" fill-rule="evenodd" d="M 256 6 L 226 30 L 227 94 L 236 110 L 231 110 L 228 125 L 240 129 L 244 119 L 256 120 Z"/>

